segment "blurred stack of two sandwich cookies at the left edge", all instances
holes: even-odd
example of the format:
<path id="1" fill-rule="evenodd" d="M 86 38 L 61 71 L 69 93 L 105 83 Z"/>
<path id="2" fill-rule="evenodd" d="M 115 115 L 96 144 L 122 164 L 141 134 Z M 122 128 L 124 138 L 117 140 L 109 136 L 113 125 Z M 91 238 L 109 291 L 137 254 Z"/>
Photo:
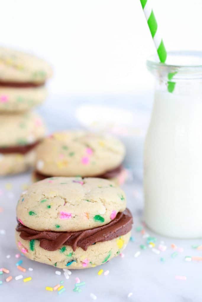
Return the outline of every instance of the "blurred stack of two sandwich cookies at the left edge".
<path id="1" fill-rule="evenodd" d="M 41 117 L 31 109 L 46 97 L 51 67 L 30 54 L 0 48 L 0 175 L 33 166 L 34 148 L 45 136 Z"/>

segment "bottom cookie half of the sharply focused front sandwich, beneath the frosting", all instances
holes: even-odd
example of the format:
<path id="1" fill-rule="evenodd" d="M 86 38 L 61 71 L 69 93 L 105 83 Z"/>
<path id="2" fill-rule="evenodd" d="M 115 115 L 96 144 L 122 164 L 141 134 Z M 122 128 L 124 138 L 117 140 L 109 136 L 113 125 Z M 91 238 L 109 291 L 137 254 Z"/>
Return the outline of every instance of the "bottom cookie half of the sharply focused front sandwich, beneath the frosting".
<path id="1" fill-rule="evenodd" d="M 131 232 L 118 238 L 97 242 L 84 251 L 78 247 L 75 252 L 71 246 L 63 245 L 56 251 L 42 249 L 40 241 L 24 240 L 20 237 L 20 232 L 15 233 L 16 244 L 20 252 L 31 259 L 58 268 L 81 269 L 91 268 L 111 260 L 126 247 L 131 236 Z"/>

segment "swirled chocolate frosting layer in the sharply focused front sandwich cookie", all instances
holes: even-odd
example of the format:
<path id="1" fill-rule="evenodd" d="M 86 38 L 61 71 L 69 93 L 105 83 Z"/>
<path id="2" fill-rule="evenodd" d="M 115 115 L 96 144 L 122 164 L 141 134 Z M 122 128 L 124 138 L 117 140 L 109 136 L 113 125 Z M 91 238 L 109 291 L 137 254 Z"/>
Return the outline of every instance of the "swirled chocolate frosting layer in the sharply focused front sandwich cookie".
<path id="1" fill-rule="evenodd" d="M 20 237 L 25 240 L 39 239 L 40 246 L 48 251 L 56 251 L 62 245 L 71 246 L 73 251 L 81 247 L 84 251 L 88 246 L 96 243 L 109 241 L 127 234 L 132 229 L 133 217 L 130 210 L 119 212 L 110 223 L 90 230 L 78 232 L 52 232 L 35 231 L 23 226 L 19 221 L 16 231 L 21 232 Z"/>

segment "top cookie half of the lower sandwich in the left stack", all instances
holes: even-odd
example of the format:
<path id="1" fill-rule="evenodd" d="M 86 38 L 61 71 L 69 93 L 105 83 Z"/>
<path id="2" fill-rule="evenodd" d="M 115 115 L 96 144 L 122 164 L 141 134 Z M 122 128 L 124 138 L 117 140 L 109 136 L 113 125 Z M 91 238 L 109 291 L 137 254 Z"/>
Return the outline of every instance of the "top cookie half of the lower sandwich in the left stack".
<path id="1" fill-rule="evenodd" d="M 35 112 L 2 114 L 0 117 L 0 147 L 24 146 L 41 140 L 46 128 Z"/>

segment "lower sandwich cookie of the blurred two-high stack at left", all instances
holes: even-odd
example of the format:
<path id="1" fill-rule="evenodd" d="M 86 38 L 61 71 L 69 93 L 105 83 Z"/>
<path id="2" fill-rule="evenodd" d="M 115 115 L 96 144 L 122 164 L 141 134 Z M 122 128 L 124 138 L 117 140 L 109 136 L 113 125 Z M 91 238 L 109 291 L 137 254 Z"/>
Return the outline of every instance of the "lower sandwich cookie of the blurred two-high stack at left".
<path id="1" fill-rule="evenodd" d="M 36 113 L 0 115 L 0 175 L 23 172 L 35 161 L 46 128 Z"/>

